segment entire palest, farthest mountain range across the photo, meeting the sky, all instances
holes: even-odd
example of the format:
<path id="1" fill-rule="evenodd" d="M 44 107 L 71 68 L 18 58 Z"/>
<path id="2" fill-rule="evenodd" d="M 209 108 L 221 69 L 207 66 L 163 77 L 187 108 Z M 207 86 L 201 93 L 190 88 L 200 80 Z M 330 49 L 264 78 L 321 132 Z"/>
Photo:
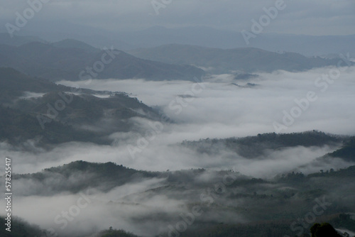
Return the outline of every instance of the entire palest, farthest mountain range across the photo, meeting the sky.
<path id="1" fill-rule="evenodd" d="M 96 48 L 114 45 L 119 50 L 153 48 L 176 43 L 222 49 L 253 47 L 272 52 L 295 52 L 307 56 L 339 53 L 355 55 L 355 35 L 261 33 L 256 38 L 252 38 L 250 44 L 247 45 L 239 31 L 226 31 L 205 26 L 181 28 L 153 26 L 138 31 L 113 32 L 62 21 L 36 22 L 31 26 L 26 26 L 26 31 L 21 31 L 21 33 L 36 35 L 49 42 L 73 38 L 89 43 Z"/>

